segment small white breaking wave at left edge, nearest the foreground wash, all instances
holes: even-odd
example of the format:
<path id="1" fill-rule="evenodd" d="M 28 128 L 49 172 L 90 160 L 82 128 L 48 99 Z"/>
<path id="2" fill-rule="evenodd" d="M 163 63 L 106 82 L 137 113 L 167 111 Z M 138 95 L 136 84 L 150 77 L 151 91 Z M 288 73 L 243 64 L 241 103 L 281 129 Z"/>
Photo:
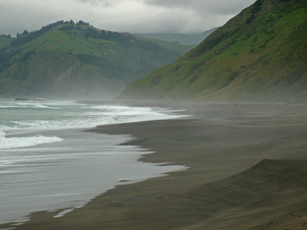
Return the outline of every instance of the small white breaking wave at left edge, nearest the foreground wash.
<path id="1" fill-rule="evenodd" d="M 0 149 L 22 148 L 38 144 L 53 143 L 62 139 L 56 136 L 32 136 L 32 137 L 5 137 L 5 132 L 0 131 Z"/>

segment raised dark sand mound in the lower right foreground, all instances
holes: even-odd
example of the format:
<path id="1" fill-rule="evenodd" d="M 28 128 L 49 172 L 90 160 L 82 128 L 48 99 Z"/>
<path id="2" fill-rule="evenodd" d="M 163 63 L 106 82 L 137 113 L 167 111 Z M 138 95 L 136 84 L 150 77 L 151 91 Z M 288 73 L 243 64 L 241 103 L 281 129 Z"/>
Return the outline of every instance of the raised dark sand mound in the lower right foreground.
<path id="1" fill-rule="evenodd" d="M 307 159 L 265 159 L 193 188 L 185 195 L 211 218 L 180 229 L 306 229 L 306 166 Z"/>

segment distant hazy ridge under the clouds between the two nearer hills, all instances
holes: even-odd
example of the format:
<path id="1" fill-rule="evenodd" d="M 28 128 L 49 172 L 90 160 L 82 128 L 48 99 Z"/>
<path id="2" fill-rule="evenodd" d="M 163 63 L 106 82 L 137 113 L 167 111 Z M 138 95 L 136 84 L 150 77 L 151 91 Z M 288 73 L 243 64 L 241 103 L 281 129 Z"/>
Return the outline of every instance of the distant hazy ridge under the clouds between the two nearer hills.
<path id="1" fill-rule="evenodd" d="M 182 33 L 135 33 L 138 36 L 153 38 L 169 42 L 179 42 L 184 45 L 198 45 L 212 32 L 219 27 L 210 29 L 200 34 L 182 34 Z"/>

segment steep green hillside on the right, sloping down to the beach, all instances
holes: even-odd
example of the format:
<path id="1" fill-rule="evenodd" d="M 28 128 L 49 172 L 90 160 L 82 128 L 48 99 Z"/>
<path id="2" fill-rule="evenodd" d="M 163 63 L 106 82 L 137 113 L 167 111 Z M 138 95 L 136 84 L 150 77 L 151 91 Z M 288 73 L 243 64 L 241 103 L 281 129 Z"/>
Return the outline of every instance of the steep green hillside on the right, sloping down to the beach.
<path id="1" fill-rule="evenodd" d="M 307 2 L 257 0 L 121 99 L 306 102 Z"/>

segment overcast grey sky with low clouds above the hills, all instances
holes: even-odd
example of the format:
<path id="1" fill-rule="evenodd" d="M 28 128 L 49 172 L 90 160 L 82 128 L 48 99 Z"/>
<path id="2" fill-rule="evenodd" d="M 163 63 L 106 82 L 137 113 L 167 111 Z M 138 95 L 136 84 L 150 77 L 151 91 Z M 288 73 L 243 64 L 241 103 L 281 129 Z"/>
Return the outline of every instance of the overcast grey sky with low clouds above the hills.
<path id="1" fill-rule="evenodd" d="M 130 33 L 202 33 L 255 0 L 0 0 L 0 33 L 16 36 L 59 20 Z"/>

